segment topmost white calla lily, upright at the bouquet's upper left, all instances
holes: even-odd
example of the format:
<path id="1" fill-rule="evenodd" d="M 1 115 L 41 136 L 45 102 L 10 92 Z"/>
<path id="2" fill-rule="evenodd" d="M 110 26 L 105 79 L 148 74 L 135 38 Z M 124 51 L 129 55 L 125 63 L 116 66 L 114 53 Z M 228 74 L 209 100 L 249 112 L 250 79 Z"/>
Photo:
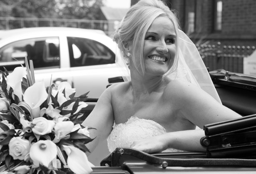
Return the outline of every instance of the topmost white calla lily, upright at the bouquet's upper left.
<path id="1" fill-rule="evenodd" d="M 21 80 L 26 73 L 25 67 L 16 67 L 12 73 L 6 77 L 7 89 L 12 87 L 13 94 L 17 95 L 20 101 L 22 100 Z"/>

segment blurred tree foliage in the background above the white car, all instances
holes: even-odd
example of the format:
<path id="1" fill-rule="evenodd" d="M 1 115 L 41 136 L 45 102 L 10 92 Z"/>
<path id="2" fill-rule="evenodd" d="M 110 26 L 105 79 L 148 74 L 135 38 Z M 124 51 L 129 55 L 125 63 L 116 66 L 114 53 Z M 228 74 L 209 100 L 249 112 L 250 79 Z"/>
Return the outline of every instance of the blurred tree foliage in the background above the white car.
<path id="1" fill-rule="evenodd" d="M 1 0 L 0 17 L 98 19 L 102 0 Z"/>

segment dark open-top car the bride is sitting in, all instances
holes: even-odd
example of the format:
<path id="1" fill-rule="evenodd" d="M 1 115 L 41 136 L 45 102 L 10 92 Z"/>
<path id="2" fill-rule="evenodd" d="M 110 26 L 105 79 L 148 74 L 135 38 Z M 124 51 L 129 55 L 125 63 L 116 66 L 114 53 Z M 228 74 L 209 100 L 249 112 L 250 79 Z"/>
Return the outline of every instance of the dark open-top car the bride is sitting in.
<path id="1" fill-rule="evenodd" d="M 213 70 L 209 74 L 222 104 L 242 117 L 204 125 L 205 136 L 200 144 L 206 152 L 148 154 L 129 147 L 117 147 L 101 157 L 99 165 L 92 168 L 93 173 L 256 173 L 256 76 L 224 69 Z M 88 159 L 92 161 L 91 155 Z"/>

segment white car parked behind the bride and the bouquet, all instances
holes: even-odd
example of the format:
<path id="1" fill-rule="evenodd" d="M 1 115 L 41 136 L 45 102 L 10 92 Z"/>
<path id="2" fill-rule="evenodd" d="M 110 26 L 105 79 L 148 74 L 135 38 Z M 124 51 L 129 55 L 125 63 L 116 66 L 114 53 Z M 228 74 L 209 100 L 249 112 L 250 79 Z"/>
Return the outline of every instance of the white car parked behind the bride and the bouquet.
<path id="1" fill-rule="evenodd" d="M 0 32 L 0 70 L 33 60 L 36 81 L 45 86 L 67 81 L 75 97 L 98 99 L 108 79 L 121 76 L 115 64 L 116 44 L 104 31 L 69 27 L 32 27 Z"/>

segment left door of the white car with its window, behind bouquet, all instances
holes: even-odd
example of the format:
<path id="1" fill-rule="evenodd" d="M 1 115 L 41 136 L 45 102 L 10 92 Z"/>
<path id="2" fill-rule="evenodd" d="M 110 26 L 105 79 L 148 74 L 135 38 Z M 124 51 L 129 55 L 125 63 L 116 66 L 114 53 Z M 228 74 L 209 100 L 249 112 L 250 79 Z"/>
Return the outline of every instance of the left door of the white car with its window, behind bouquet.
<path id="1" fill-rule="evenodd" d="M 68 76 L 70 74 L 68 56 L 60 56 L 68 54 L 67 49 L 66 53 L 60 54 L 62 45 L 65 46 L 67 43 L 62 41 L 60 44 L 60 37 L 57 36 L 12 41 L 0 48 L 0 69 L 4 70 L 5 67 L 11 72 L 18 66 L 25 67 L 27 56 L 27 59 L 33 62 L 36 81 L 44 80 L 45 86 L 53 83 L 58 85 L 61 81 L 72 84 L 72 77 Z"/>

